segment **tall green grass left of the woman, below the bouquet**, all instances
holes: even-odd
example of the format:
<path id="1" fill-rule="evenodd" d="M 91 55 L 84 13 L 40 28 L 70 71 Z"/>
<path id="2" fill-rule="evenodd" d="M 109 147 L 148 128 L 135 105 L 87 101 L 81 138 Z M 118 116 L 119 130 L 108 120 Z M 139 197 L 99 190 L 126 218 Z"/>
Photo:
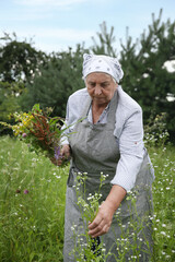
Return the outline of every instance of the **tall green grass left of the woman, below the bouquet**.
<path id="1" fill-rule="evenodd" d="M 0 140 L 0 261 L 62 261 L 67 168 Z"/>

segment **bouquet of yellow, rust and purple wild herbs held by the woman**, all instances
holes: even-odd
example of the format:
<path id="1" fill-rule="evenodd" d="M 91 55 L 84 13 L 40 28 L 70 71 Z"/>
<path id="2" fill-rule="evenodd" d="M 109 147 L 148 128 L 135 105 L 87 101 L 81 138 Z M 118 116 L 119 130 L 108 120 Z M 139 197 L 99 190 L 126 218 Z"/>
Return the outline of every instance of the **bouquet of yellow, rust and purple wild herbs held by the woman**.
<path id="1" fill-rule="evenodd" d="M 36 104 L 32 111 L 10 115 L 15 120 L 14 126 L 0 123 L 12 129 L 14 136 L 24 141 L 30 151 L 58 160 L 61 158 L 60 139 L 69 127 L 65 124 L 66 128 L 61 129 L 63 120 L 60 117 L 49 117 L 51 111 L 51 108 L 42 110 L 39 104 Z"/>

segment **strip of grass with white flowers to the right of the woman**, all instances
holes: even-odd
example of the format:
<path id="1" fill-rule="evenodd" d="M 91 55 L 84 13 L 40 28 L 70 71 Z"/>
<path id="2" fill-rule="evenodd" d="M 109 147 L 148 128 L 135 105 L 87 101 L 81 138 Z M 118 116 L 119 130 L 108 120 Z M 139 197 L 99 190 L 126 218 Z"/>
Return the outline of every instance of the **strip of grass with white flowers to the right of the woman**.
<path id="1" fill-rule="evenodd" d="M 153 182 L 154 261 L 175 261 L 175 147 L 150 148 Z"/>

